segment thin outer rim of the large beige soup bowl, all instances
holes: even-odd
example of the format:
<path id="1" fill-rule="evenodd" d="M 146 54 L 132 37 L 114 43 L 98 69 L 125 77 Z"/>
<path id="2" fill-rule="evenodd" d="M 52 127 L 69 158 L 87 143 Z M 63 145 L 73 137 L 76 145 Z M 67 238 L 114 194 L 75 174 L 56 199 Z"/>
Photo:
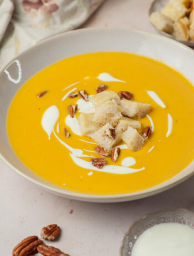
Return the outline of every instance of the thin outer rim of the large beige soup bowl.
<path id="1" fill-rule="evenodd" d="M 45 40 L 42 40 L 40 42 L 38 42 L 37 44 L 35 44 L 34 46 L 29 47 L 27 50 L 24 50 L 22 53 L 20 53 L 19 55 L 15 56 L 14 58 L 12 58 L 11 61 L 9 61 L 4 67 L 1 68 L 0 73 L 4 71 L 4 69 L 6 69 L 6 67 L 9 66 L 10 63 L 12 63 L 14 60 L 17 60 L 17 58 L 22 57 L 23 55 L 25 55 L 25 53 L 30 52 L 32 49 L 38 48 L 42 45 L 44 45 L 45 43 L 52 43 L 55 40 L 58 40 L 60 38 L 63 37 L 67 37 L 69 35 L 73 35 L 73 34 L 78 34 L 81 33 L 87 33 L 90 31 L 120 31 L 120 32 L 132 32 L 132 33 L 139 33 L 141 35 L 145 35 L 145 36 L 149 36 L 152 38 L 160 38 L 161 40 L 167 41 L 169 43 L 173 43 L 175 45 L 178 45 L 179 47 L 183 48 L 186 51 L 189 51 L 193 54 L 193 50 L 186 46 L 183 45 L 180 42 L 177 42 L 169 37 L 164 37 L 161 35 L 157 35 L 154 33 L 150 33 L 150 32 L 145 32 L 145 31 L 140 31 L 137 29 L 129 29 L 129 28 L 115 28 L 115 27 L 109 27 L 109 28 L 80 28 L 80 29 L 75 29 L 73 31 L 68 31 L 68 32 L 64 32 L 64 33 L 60 33 L 59 35 L 54 35 L 52 37 L 46 38 Z M 1 149 L 0 149 L 1 150 Z M 15 153 L 14 153 L 15 154 Z M 172 178 L 170 178 L 169 180 L 166 180 L 160 184 L 157 184 L 155 186 L 152 186 L 148 189 L 143 189 L 143 190 L 139 190 L 136 192 L 132 192 L 132 193 L 125 193 L 125 194 L 110 194 L 110 195 L 100 195 L 100 194 L 85 194 L 85 193 L 80 193 L 80 192 L 76 192 L 76 191 L 72 191 L 72 190 L 65 190 L 63 188 L 60 188 L 58 186 L 53 185 L 54 187 L 50 187 L 50 183 L 48 181 L 45 181 L 46 183 L 43 184 L 41 181 L 35 180 L 35 178 L 30 177 L 28 174 L 24 174 L 22 171 L 20 171 L 18 168 L 14 167 L 11 163 L 9 163 L 9 161 L 6 159 L 6 157 L 3 156 L 2 152 L 0 151 L 0 158 L 4 161 L 4 163 L 6 163 L 11 169 L 13 169 L 14 171 L 16 171 L 18 174 L 22 175 L 25 179 L 31 181 L 32 183 L 34 183 L 35 185 L 38 185 L 40 188 L 50 191 L 54 194 L 60 195 L 60 196 L 65 196 L 66 198 L 69 199 L 75 199 L 75 200 L 80 200 L 80 201 L 90 201 L 90 202 L 97 202 L 97 203 L 116 203 L 116 202 L 121 202 L 121 201 L 130 201 L 130 200 L 136 200 L 136 199 L 141 199 L 141 198 L 146 198 L 147 196 L 151 196 L 151 195 L 155 195 L 155 194 L 159 194 L 167 189 L 173 188 L 173 186 L 176 186 L 180 183 L 182 183 L 183 181 L 187 180 L 188 178 L 190 178 L 190 176 L 192 176 L 194 174 L 194 169 L 188 171 L 188 173 L 182 178 L 182 179 L 177 179 L 175 181 L 171 181 L 173 178 L 175 178 L 178 174 L 180 174 L 182 171 L 180 171 L 180 173 L 176 174 L 175 176 L 173 176 Z M 157 186 L 160 185 L 160 188 L 157 188 Z"/>

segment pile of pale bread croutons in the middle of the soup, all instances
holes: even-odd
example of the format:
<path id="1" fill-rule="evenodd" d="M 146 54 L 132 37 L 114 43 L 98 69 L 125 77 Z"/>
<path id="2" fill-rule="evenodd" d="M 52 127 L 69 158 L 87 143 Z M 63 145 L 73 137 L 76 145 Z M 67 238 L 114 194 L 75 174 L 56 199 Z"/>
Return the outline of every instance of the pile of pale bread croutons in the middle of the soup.
<path id="1" fill-rule="evenodd" d="M 141 149 L 151 135 L 151 127 L 147 126 L 139 133 L 139 119 L 152 110 L 150 104 L 134 101 L 132 93 L 127 91 L 116 93 L 105 90 L 89 97 L 89 101 L 95 107 L 95 114 L 79 115 L 81 135 L 94 132 L 93 139 L 106 152 L 110 152 L 121 140 L 132 151 Z"/>

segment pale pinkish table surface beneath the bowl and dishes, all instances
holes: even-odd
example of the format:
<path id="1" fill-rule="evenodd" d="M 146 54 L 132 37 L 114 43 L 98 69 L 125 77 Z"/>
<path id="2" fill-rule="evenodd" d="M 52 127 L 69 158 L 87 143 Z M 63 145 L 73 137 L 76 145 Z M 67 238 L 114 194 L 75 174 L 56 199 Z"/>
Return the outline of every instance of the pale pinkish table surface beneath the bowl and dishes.
<path id="1" fill-rule="evenodd" d="M 154 32 L 147 11 L 152 0 L 106 0 L 82 27 L 127 27 Z M 74 201 L 42 191 L 0 160 L 1 255 L 18 242 L 57 223 L 62 235 L 47 243 L 71 256 L 118 256 L 121 240 L 133 221 L 151 211 L 194 210 L 194 177 L 159 195 L 116 204 Z M 70 214 L 70 210 L 73 213 Z"/>

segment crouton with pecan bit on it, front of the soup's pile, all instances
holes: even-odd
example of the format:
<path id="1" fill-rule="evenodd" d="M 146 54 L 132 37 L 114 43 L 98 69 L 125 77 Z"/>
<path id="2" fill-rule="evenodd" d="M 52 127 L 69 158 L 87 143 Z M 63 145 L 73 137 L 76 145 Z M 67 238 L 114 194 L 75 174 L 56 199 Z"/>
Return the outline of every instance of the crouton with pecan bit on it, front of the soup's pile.
<path id="1" fill-rule="evenodd" d="M 109 129 L 114 129 L 110 124 L 105 124 L 94 134 L 94 140 L 101 147 L 104 147 L 106 151 L 110 151 L 116 144 L 118 144 L 121 140 L 121 134 L 116 134 L 115 139 L 106 136 L 105 131 Z"/>

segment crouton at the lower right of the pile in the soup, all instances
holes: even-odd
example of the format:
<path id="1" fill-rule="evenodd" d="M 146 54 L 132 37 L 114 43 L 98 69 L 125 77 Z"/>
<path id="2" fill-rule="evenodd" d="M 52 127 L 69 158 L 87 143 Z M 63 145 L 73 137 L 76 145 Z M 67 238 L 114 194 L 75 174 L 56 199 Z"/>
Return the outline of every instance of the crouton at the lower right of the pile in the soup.
<path id="1" fill-rule="evenodd" d="M 122 140 L 132 151 L 140 150 L 144 144 L 144 138 L 131 126 L 122 134 Z"/>

